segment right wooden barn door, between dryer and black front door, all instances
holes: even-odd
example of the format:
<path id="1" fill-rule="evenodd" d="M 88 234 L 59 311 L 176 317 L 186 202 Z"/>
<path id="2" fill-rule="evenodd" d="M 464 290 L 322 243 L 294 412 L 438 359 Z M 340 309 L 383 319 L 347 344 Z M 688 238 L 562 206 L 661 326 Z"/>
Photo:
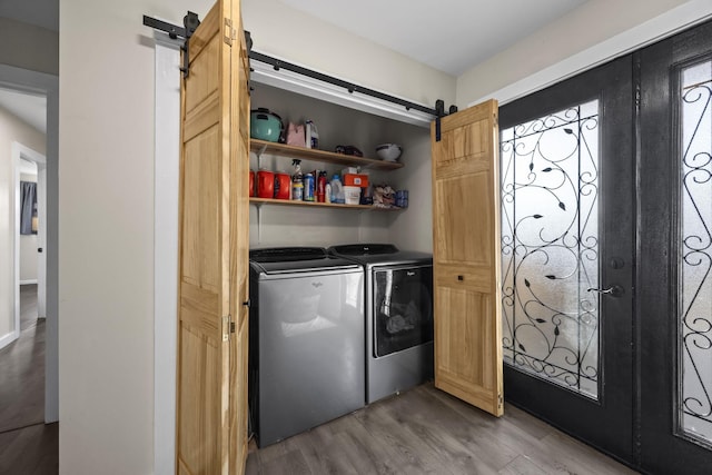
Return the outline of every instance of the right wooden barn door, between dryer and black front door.
<path id="1" fill-rule="evenodd" d="M 497 102 L 432 125 L 435 386 L 504 412 Z"/>

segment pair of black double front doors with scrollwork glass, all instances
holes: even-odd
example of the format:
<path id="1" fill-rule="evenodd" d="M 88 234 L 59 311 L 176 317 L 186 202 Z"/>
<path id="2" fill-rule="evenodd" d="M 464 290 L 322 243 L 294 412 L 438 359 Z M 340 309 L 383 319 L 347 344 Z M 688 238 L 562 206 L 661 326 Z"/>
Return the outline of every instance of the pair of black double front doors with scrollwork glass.
<path id="1" fill-rule="evenodd" d="M 712 473 L 711 97 L 704 23 L 501 108 L 505 398 L 645 473 Z"/>

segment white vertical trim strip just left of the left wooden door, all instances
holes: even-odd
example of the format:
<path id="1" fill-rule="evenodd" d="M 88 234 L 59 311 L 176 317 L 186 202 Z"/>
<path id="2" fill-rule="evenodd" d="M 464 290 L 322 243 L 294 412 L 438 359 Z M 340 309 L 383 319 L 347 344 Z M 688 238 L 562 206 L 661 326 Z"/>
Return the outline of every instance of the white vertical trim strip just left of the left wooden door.
<path id="1" fill-rule="evenodd" d="M 180 44 L 155 31 L 154 473 L 176 473 Z"/>

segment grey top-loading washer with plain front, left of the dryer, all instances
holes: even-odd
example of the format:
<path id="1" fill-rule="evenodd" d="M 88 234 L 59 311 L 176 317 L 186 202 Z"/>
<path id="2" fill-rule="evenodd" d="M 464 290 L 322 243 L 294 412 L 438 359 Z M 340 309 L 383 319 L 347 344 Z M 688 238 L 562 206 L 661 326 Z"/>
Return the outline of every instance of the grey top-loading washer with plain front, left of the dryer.
<path id="1" fill-rule="evenodd" d="M 364 270 L 318 247 L 249 256 L 249 400 L 264 447 L 365 405 Z"/>

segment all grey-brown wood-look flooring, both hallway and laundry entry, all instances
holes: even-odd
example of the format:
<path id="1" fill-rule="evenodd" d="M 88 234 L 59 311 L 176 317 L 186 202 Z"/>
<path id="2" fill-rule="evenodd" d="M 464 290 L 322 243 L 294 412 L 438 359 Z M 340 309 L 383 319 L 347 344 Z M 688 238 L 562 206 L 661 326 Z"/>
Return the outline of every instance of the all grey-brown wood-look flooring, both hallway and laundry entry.
<path id="1" fill-rule="evenodd" d="M 43 424 L 44 324 L 22 286 L 21 336 L 0 350 L 0 475 L 59 471 L 58 424 Z M 507 405 L 492 417 L 432 384 L 253 451 L 247 474 L 634 474 Z"/>

